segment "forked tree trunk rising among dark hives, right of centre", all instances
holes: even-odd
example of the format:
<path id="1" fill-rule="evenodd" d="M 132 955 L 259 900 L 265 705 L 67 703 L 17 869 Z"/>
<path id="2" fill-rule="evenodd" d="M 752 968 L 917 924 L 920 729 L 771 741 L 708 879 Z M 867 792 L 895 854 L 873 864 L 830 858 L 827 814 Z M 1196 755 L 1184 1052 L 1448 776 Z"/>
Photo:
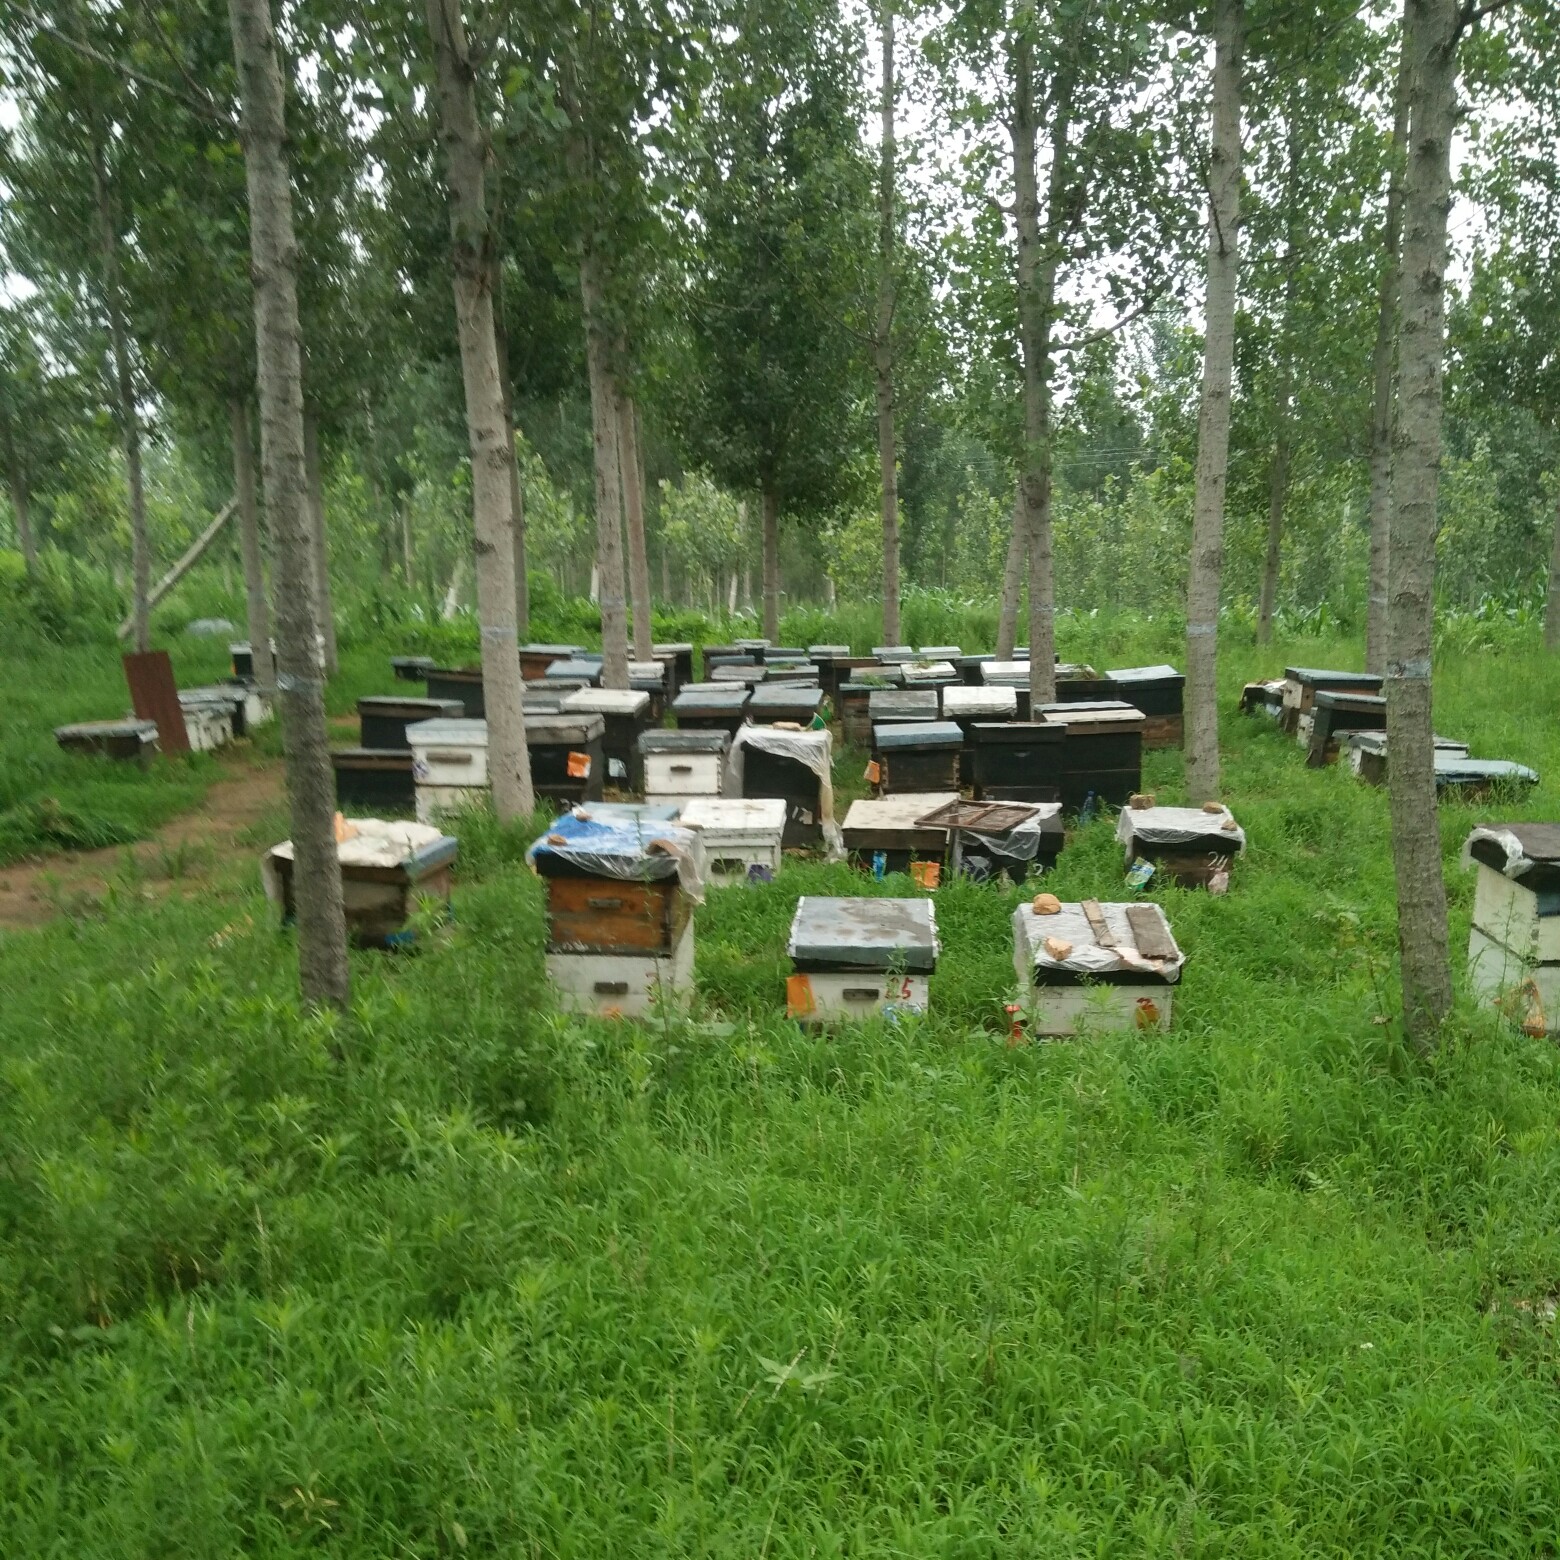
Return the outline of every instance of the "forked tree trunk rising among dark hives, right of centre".
<path id="1" fill-rule="evenodd" d="M 1036 178 L 1034 44 L 1014 44 L 1012 172 L 1019 231 L 1019 346 L 1023 359 L 1023 535 L 1030 551 L 1030 704 L 1056 699 L 1056 602 L 1051 579 L 1051 329 L 1056 323 L 1058 223 L 1069 170 L 1072 90 L 1062 86 L 1051 117 L 1051 172 L 1041 232 Z"/>

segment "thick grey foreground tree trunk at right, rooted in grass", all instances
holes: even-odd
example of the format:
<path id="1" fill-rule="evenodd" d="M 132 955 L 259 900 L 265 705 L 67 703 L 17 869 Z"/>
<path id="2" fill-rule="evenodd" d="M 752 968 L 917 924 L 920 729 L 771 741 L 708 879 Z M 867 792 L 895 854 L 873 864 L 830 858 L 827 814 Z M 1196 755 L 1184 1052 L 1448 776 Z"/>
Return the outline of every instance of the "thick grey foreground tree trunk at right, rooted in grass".
<path id="1" fill-rule="evenodd" d="M 1392 532 L 1387 543 L 1387 791 L 1398 878 L 1398 947 L 1409 1037 L 1435 1044 L 1451 1009 L 1446 883 L 1435 811 L 1431 651 L 1435 488 L 1441 465 L 1446 217 L 1457 119 L 1457 0 L 1410 0 L 1409 164 L 1402 192 L 1402 303 Z"/>

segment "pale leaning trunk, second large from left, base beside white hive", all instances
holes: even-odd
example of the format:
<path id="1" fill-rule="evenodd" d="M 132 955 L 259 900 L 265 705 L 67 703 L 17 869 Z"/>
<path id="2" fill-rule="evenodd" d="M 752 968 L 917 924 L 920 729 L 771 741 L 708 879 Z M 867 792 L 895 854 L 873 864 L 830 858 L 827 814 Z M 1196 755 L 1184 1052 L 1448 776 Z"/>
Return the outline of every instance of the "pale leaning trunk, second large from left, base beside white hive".
<path id="1" fill-rule="evenodd" d="M 504 821 L 534 811 L 530 750 L 521 705 L 519 632 L 515 624 L 515 529 L 510 513 L 515 438 L 493 331 L 487 144 L 477 120 L 474 70 L 460 0 L 427 0 L 434 41 L 438 139 L 449 193 L 449 250 L 456 293 L 460 378 L 471 445 L 471 510 L 482 629 L 482 696 L 487 705 L 493 810 Z"/>

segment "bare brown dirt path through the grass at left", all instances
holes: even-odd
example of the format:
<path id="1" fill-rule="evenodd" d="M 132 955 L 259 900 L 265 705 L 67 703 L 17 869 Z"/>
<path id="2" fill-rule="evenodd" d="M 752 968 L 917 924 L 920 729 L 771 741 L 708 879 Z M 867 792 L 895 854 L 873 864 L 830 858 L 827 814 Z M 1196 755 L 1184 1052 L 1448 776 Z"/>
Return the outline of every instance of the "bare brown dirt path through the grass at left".
<path id="1" fill-rule="evenodd" d="M 282 805 L 281 760 L 232 752 L 220 763 L 223 775 L 212 782 L 206 800 L 150 839 L 0 867 L 0 931 L 80 914 L 111 883 L 156 899 L 209 883 L 239 856 L 257 858 L 256 847 L 240 836 Z"/>

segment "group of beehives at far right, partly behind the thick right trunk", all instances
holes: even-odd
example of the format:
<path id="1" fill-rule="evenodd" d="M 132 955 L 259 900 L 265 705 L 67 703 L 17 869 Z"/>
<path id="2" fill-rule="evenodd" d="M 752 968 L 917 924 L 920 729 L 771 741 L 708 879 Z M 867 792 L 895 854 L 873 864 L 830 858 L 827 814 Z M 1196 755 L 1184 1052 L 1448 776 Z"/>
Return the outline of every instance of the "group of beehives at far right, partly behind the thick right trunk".
<path id="1" fill-rule="evenodd" d="M 1346 761 L 1362 780 L 1387 780 L 1387 700 L 1374 672 L 1343 672 L 1287 666 L 1270 682 L 1248 683 L 1240 696 L 1246 713 L 1270 716 L 1306 750 L 1306 763 L 1320 769 Z M 1538 785 L 1538 774 L 1509 758 L 1474 758 L 1466 743 L 1437 736 L 1435 788 L 1466 800 L 1498 789 Z"/>

